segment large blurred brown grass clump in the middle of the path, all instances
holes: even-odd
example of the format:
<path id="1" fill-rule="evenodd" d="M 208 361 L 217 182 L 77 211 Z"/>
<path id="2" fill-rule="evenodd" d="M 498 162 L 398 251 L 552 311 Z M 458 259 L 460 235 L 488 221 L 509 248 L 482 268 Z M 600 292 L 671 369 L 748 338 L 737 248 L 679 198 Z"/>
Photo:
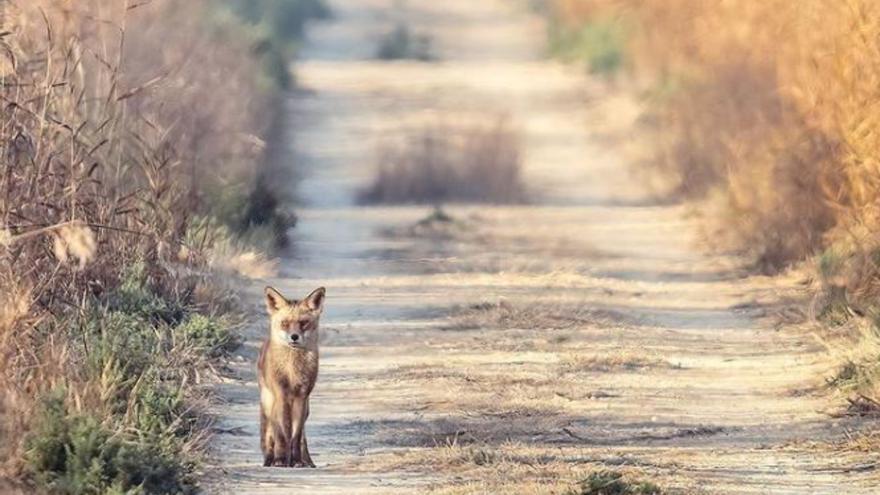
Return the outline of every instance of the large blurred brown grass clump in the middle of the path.
<path id="1" fill-rule="evenodd" d="M 467 126 L 428 125 L 402 146 L 381 150 L 362 203 L 520 203 L 520 137 L 506 119 Z"/>

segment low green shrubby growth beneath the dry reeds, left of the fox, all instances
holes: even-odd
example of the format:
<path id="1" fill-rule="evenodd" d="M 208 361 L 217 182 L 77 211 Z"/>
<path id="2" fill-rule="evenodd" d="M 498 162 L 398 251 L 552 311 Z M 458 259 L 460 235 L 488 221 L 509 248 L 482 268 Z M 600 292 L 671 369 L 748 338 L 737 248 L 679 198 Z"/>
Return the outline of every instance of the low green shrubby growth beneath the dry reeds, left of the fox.
<path id="1" fill-rule="evenodd" d="M 203 421 L 178 367 L 234 348 L 233 327 L 150 289 L 143 263 L 120 278 L 107 302 L 90 301 L 79 320 L 44 330 L 64 334 L 81 363 L 71 383 L 90 384 L 78 391 L 82 412 L 79 401 L 71 412 L 63 390 L 47 396 L 27 437 L 26 472 L 50 493 L 194 490 L 187 451 Z"/>

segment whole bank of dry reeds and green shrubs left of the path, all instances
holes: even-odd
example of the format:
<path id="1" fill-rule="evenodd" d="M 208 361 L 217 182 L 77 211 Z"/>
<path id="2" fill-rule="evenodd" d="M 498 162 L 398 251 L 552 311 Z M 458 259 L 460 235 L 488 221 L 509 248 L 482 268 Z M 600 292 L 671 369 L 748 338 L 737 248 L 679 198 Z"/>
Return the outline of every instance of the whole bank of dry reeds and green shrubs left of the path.
<path id="1" fill-rule="evenodd" d="M 241 322 L 221 279 L 271 270 L 289 226 L 280 200 L 254 201 L 287 82 L 248 34 L 270 16 L 235 5 L 3 5 L 3 490 L 197 488 L 200 385 Z"/>

